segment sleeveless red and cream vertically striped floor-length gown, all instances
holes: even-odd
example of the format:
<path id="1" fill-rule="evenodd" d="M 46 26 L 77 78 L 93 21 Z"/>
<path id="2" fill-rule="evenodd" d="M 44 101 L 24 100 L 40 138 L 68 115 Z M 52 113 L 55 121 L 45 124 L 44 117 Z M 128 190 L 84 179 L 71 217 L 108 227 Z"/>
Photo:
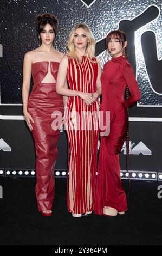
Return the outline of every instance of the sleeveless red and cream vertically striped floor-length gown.
<path id="1" fill-rule="evenodd" d="M 94 93 L 98 76 L 96 59 L 68 59 L 67 80 L 72 90 Z M 92 114 L 93 113 L 93 114 Z M 99 137 L 99 101 L 86 105 L 79 96 L 69 97 L 65 114 L 68 135 L 68 210 L 82 214 L 94 209 L 96 155 Z"/>

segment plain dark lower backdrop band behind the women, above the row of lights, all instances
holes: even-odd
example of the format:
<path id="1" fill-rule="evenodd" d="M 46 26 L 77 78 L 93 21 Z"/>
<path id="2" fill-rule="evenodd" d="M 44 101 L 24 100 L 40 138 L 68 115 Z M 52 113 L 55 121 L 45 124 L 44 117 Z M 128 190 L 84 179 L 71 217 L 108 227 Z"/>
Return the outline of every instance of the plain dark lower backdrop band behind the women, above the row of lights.
<path id="1" fill-rule="evenodd" d="M 129 124 L 129 170 L 161 171 L 162 123 L 130 121 Z M 21 120 L 0 120 L 0 167 L 35 168 L 34 142 L 30 131 L 25 127 L 24 121 Z M 56 169 L 67 169 L 67 147 L 66 135 L 61 132 Z M 124 144 L 120 157 L 121 169 L 125 169 L 125 156 Z"/>

